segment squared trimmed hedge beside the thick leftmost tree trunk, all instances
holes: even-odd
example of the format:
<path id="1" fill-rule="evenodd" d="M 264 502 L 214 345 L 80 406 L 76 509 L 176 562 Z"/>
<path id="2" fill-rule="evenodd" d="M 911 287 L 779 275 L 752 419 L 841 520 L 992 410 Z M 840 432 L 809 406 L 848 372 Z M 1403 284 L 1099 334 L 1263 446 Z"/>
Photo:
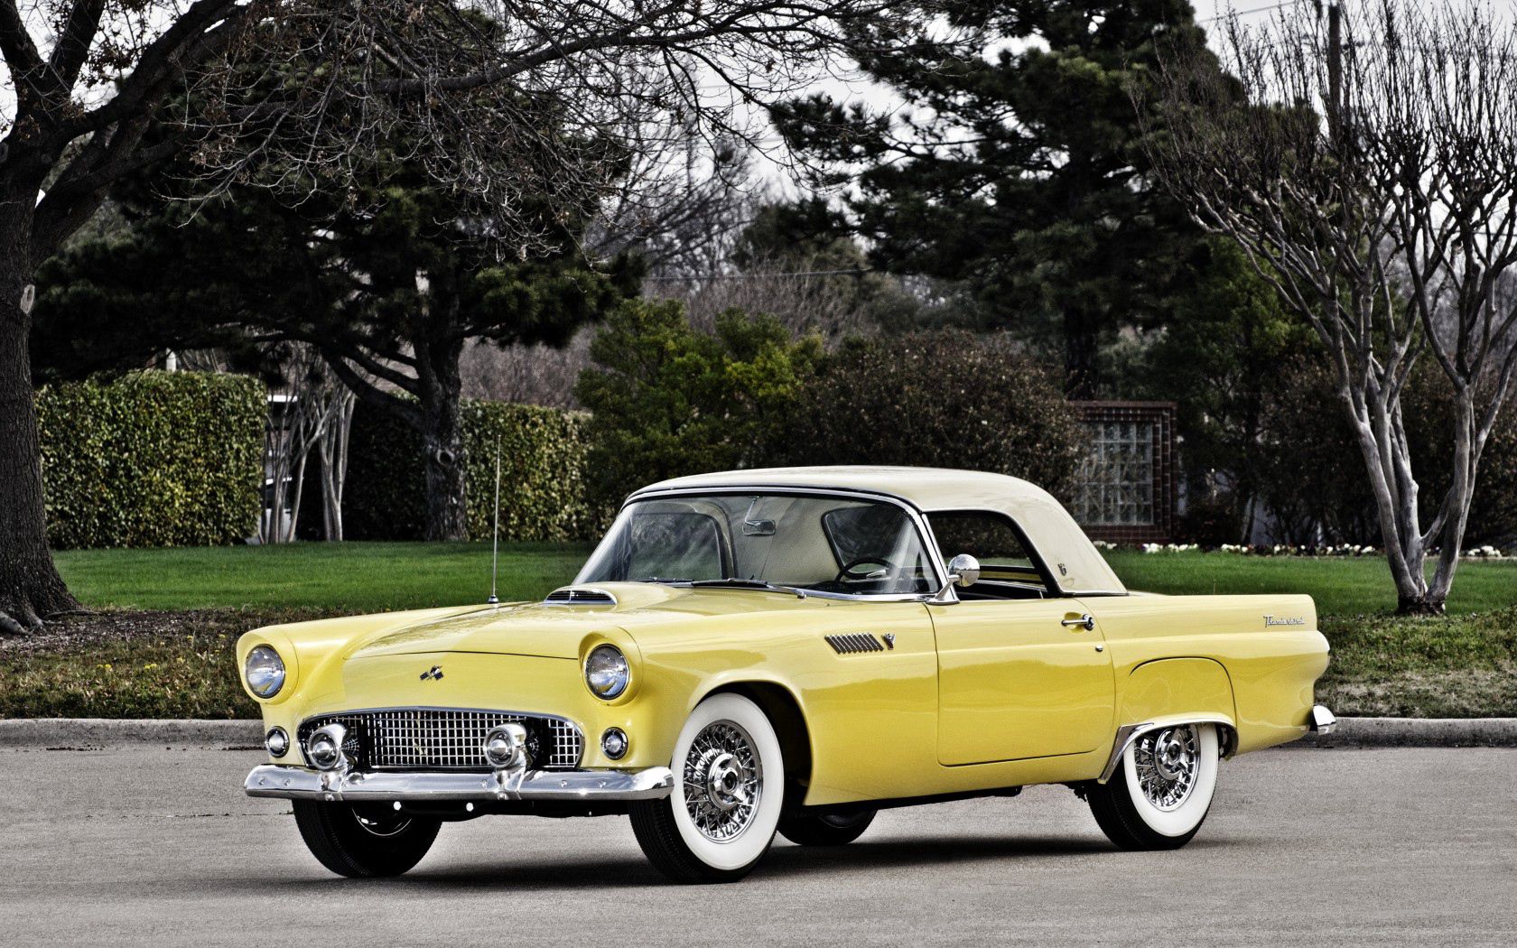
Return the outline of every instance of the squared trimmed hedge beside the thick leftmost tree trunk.
<path id="1" fill-rule="evenodd" d="M 256 379 L 191 372 L 41 388 L 49 543 L 212 546 L 256 532 L 264 396 Z"/>

